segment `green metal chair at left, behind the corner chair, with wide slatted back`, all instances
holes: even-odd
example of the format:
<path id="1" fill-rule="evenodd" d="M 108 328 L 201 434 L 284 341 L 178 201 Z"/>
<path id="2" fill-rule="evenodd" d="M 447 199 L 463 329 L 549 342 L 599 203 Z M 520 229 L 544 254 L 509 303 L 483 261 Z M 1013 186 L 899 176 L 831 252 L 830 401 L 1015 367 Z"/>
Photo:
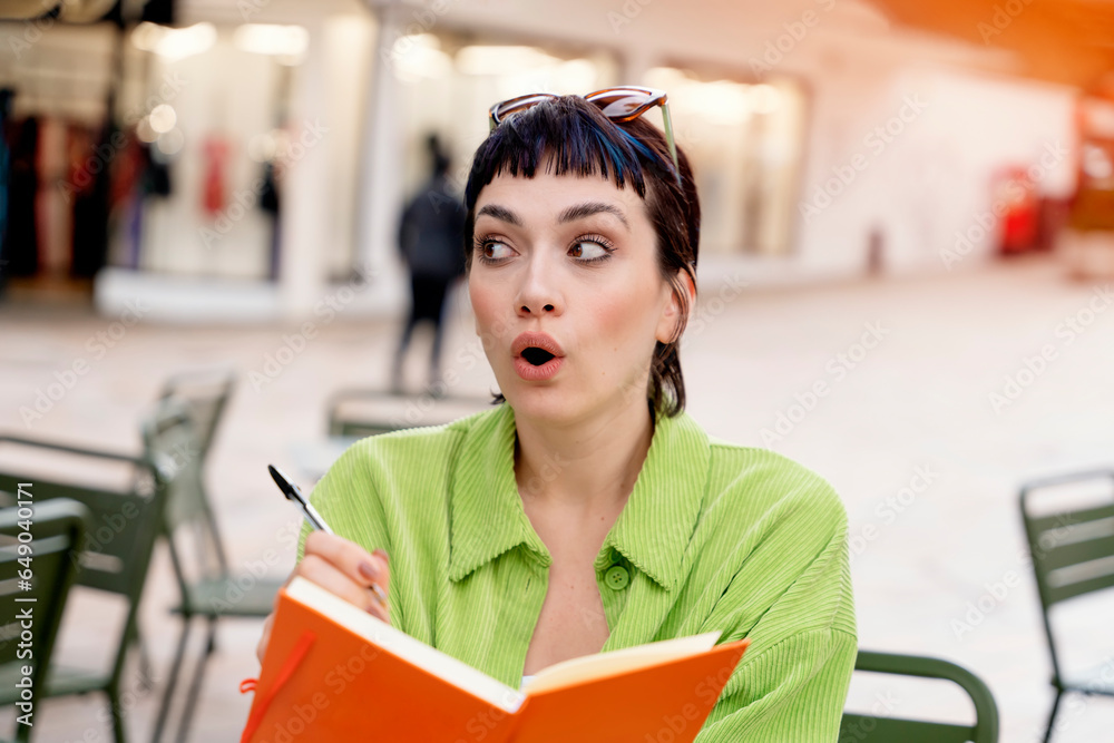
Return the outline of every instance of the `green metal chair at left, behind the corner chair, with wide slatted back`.
<path id="1" fill-rule="evenodd" d="M 129 486 L 118 490 L 74 481 L 52 481 L 27 472 L 0 472 L 2 492 L 13 496 L 20 482 L 30 481 L 35 483 L 37 501 L 69 498 L 85 505 L 91 514 L 91 522 L 96 527 L 90 527 L 80 555 L 77 585 L 120 596 L 127 604 L 127 610 L 119 634 L 104 638 L 114 643 L 111 667 L 89 669 L 52 663 L 47 674 L 45 696 L 91 692 L 106 694 L 116 743 L 126 740 L 120 684 L 128 648 L 138 637 L 144 583 L 156 539 L 163 531 L 163 511 L 169 487 L 177 470 L 187 463 L 193 447 L 192 436 L 189 419 L 180 403 L 164 401 L 144 424 L 144 453 L 140 457 L 0 437 L 0 446 L 49 451 L 70 461 L 80 461 L 81 458 L 115 461 L 133 470 Z"/>

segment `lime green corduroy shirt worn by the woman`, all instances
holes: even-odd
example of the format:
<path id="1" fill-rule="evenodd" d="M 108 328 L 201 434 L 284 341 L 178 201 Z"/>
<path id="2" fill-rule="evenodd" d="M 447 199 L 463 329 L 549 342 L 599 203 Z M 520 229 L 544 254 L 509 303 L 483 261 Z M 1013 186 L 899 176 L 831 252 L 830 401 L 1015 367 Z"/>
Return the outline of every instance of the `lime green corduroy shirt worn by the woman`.
<path id="1" fill-rule="evenodd" d="M 553 557 L 522 507 L 515 439 L 506 402 L 370 437 L 311 501 L 336 534 L 390 555 L 392 625 L 517 688 Z M 751 638 L 697 743 L 837 740 L 857 638 L 847 514 L 824 479 L 709 437 L 686 412 L 659 416 L 595 568 L 600 652 Z"/>

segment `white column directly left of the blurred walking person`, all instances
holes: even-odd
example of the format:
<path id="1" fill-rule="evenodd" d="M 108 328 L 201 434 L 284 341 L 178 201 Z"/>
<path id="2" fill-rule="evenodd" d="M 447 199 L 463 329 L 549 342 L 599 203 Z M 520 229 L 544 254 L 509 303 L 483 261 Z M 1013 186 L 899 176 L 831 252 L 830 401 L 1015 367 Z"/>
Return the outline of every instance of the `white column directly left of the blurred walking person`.
<path id="1" fill-rule="evenodd" d="M 397 225 L 403 203 L 401 91 L 391 49 L 402 33 L 402 6 L 374 3 L 377 33 L 363 117 L 356 194 L 355 255 L 373 272 L 375 311 L 394 312 L 403 300 L 405 272 L 398 258 Z"/>

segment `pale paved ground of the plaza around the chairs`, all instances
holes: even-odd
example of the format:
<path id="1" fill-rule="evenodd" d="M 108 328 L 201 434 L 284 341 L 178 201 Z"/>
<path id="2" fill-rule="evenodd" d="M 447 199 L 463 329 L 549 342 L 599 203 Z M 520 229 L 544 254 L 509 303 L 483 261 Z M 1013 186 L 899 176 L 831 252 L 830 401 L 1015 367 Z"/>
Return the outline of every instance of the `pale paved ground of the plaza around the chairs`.
<path id="1" fill-rule="evenodd" d="M 747 289 L 737 296 L 712 290 L 684 350 L 690 410 L 711 433 L 770 446 L 825 476 L 842 495 L 861 646 L 947 657 L 974 669 L 997 697 L 1003 741 L 1038 740 L 1052 702 L 1022 555 L 1018 483 L 1114 465 L 1114 310 L 1106 297 L 1094 284 L 1069 282 L 1047 260 L 921 278 Z M 482 393 L 490 371 L 482 359 L 469 361 L 475 336 L 460 299 L 447 359 L 461 375 L 461 391 Z M 1088 303 L 1102 311 L 1092 313 Z M 211 491 L 234 564 L 246 566 L 276 548 L 282 563 L 274 573 L 285 575 L 294 555 L 284 536 L 296 518 L 265 466 L 295 469 L 323 436 L 331 391 L 384 382 L 393 325 L 343 316 L 319 323 L 320 334 L 304 349 L 282 352 L 289 363 L 272 379 L 264 364 L 292 329 L 139 324 L 121 335 L 116 320 L 0 309 L 0 428 L 134 449 L 137 420 L 167 374 L 235 365 L 242 381 L 213 456 Z M 119 338 L 101 350 L 98 333 Z M 419 335 L 416 343 L 409 371 L 417 382 L 423 368 L 417 354 L 427 340 Z M 1042 351 L 1043 363 L 1034 360 Z M 88 371 L 26 426 L 20 408 L 32 407 L 37 391 L 78 359 Z M 1027 364 L 1039 373 L 1028 373 Z M 251 372 L 263 375 L 254 385 Z M 1016 389 L 1007 390 L 1007 378 Z M 827 394 L 812 399 L 818 382 L 827 383 Z M 997 403 L 991 393 L 1001 395 Z M 159 554 L 143 612 L 156 691 L 140 691 L 134 674 L 125 685 L 135 740 L 152 730 L 177 630 L 167 617 L 174 593 Z M 99 638 L 116 608 L 82 597 L 63 628 L 66 656 L 101 657 Z M 1114 668 L 1112 602 L 1067 608 L 1064 638 L 1096 648 L 1081 657 Z M 222 627 L 190 740 L 238 739 L 250 700 L 237 685 L 256 673 L 258 632 L 253 620 Z M 968 714 L 949 691 L 857 677 L 852 698 L 869 706 L 881 694 L 895 714 Z M 38 740 L 107 740 L 101 711 L 100 700 L 46 703 Z M 1057 741 L 1110 740 L 1114 700 L 1072 701 L 1062 717 Z"/>

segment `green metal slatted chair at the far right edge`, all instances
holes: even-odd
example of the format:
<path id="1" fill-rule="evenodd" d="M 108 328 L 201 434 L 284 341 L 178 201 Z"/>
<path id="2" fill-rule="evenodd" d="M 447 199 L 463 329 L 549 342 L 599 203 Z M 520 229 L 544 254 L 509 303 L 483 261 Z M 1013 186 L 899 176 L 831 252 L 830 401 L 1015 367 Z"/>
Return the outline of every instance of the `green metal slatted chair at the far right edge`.
<path id="1" fill-rule="evenodd" d="M 1038 490 L 1106 481 L 1114 485 L 1114 470 L 1075 472 L 1022 486 L 1020 511 L 1025 535 L 1033 558 L 1033 573 L 1040 597 L 1040 616 L 1048 637 L 1052 656 L 1052 685 L 1056 698 L 1048 714 L 1044 740 L 1052 740 L 1053 723 L 1061 698 L 1067 692 L 1085 695 L 1114 696 L 1114 674 L 1111 666 L 1079 675 L 1066 674 L 1056 649 L 1056 635 L 1051 619 L 1052 608 L 1068 599 L 1114 587 L 1114 499 L 1102 506 L 1056 510 L 1035 516 L 1033 493 Z M 1114 488 L 1112 488 L 1114 492 Z"/>

